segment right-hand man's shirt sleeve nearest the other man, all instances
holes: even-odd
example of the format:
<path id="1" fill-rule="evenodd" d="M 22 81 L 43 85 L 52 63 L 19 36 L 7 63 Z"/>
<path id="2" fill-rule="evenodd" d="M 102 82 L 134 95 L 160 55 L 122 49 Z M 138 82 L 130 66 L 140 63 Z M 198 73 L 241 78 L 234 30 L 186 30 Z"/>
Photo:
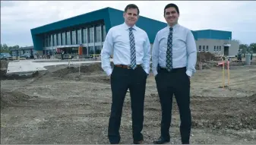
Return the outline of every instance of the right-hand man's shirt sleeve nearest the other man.
<path id="1" fill-rule="evenodd" d="M 157 74 L 158 59 L 159 59 L 159 40 L 158 40 L 158 33 L 156 33 L 156 37 L 153 42 L 153 48 L 152 48 L 152 71 L 154 76 L 156 76 Z"/>

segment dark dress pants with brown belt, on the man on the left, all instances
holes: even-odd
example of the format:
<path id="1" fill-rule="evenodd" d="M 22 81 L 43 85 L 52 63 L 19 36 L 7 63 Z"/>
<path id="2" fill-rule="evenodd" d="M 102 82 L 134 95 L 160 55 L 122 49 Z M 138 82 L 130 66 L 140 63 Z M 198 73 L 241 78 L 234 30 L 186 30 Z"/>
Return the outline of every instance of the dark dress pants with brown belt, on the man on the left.
<path id="1" fill-rule="evenodd" d="M 144 96 L 147 73 L 143 68 L 115 67 L 111 74 L 112 106 L 109 118 L 108 137 L 110 143 L 120 141 L 120 122 L 125 95 L 129 88 L 131 95 L 132 133 L 134 141 L 143 140 L 141 134 L 144 121 Z"/>

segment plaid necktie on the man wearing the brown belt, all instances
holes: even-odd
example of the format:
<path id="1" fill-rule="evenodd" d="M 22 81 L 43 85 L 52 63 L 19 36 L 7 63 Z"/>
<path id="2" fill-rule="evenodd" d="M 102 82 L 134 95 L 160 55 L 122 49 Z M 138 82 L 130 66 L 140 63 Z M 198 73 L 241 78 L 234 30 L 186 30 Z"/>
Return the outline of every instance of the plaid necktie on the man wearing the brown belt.
<path id="1" fill-rule="evenodd" d="M 129 38 L 130 38 L 130 47 L 131 47 L 131 68 L 136 68 L 136 51 L 135 51 L 135 41 L 134 34 L 132 33 L 132 27 L 129 28 Z"/>

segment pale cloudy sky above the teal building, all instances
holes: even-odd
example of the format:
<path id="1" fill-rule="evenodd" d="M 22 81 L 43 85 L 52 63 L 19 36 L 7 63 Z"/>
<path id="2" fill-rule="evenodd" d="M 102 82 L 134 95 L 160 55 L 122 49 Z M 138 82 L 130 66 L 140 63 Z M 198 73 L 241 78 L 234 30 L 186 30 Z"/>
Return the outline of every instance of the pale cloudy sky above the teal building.
<path id="1" fill-rule="evenodd" d="M 1 43 L 33 46 L 30 29 L 111 7 L 124 11 L 135 4 L 141 16 L 166 22 L 163 9 L 178 5 L 179 24 L 190 30 L 232 31 L 232 39 L 256 43 L 256 2 L 254 1 L 1 1 Z"/>

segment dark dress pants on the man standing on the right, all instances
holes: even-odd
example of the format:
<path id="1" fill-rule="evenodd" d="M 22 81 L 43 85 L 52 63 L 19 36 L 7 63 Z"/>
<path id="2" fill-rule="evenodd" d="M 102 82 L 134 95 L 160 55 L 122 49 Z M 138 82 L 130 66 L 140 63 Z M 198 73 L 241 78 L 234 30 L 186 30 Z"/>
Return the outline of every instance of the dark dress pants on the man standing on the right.
<path id="1" fill-rule="evenodd" d="M 182 143 L 189 143 L 191 134 L 190 80 L 186 68 L 174 68 L 171 72 L 160 68 L 156 74 L 156 87 L 162 109 L 161 137 L 169 140 L 172 118 L 172 96 L 175 95 L 181 119 Z"/>

